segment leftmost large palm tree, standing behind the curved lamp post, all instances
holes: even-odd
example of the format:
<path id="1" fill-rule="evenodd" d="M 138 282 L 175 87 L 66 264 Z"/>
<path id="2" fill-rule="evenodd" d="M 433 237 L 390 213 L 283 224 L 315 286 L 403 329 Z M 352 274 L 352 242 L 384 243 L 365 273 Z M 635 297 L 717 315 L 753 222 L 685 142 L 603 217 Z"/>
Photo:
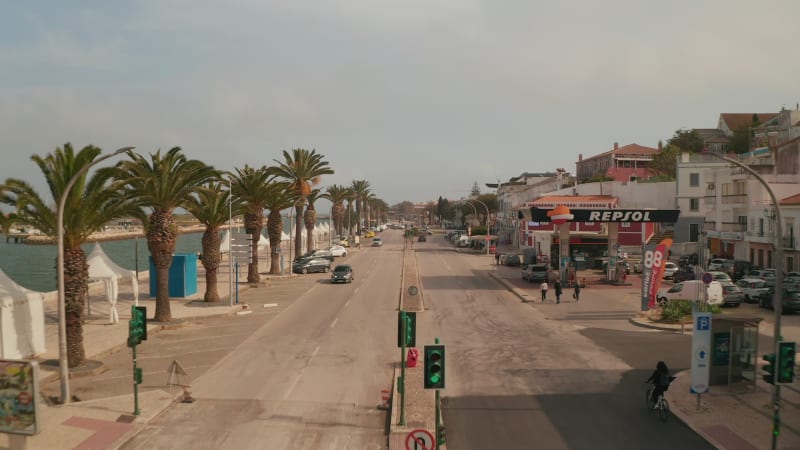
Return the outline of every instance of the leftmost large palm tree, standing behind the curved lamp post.
<path id="1" fill-rule="evenodd" d="M 61 199 L 69 180 L 91 164 L 101 150 L 86 146 L 77 154 L 69 143 L 45 157 L 31 156 L 44 174 L 53 199 Z M 89 265 L 81 244 L 108 222 L 129 215 L 136 205 L 129 197 L 110 188 L 108 174 L 96 171 L 78 177 L 64 203 L 64 320 L 67 332 L 67 366 L 86 361 L 83 347 L 84 293 L 89 285 Z M 53 200 L 43 199 L 26 181 L 9 178 L 1 189 L 0 202 L 16 208 L 16 221 L 58 237 L 58 211 Z"/>

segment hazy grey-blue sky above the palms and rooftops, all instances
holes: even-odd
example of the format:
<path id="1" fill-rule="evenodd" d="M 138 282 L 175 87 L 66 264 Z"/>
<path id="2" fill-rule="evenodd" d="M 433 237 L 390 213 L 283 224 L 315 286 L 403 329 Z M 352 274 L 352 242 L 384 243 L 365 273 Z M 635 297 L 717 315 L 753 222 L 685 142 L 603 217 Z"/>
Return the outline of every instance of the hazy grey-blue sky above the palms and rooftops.
<path id="1" fill-rule="evenodd" d="M 64 142 L 325 155 L 389 204 L 800 100 L 797 0 L 4 1 L 0 180 Z"/>

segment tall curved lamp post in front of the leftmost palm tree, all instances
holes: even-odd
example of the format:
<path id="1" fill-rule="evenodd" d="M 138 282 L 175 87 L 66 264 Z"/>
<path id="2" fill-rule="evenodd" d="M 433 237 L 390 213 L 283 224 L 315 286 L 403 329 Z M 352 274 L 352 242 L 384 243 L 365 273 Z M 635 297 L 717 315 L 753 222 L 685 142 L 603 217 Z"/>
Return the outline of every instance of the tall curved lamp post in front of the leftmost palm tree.
<path id="1" fill-rule="evenodd" d="M 70 401 L 69 395 L 69 367 L 67 361 L 67 320 L 66 298 L 64 295 L 64 204 L 67 202 L 72 186 L 83 176 L 92 166 L 105 161 L 112 156 L 133 150 L 136 147 L 122 147 L 114 153 L 101 156 L 91 163 L 83 166 L 67 183 L 61 198 L 58 201 L 58 260 L 56 261 L 56 272 L 58 274 L 58 369 L 61 379 L 61 403 L 67 404 Z M 138 271 L 138 267 L 136 268 Z"/>

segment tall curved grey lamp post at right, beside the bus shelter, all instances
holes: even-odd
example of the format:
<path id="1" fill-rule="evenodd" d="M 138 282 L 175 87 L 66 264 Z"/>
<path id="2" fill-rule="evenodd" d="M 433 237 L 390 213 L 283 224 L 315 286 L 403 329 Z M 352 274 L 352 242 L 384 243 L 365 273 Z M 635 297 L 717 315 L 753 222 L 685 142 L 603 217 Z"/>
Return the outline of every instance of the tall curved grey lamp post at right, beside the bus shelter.
<path id="1" fill-rule="evenodd" d="M 781 205 L 778 203 L 778 199 L 775 197 L 775 193 L 772 192 L 770 189 L 769 184 L 758 174 L 758 172 L 754 171 L 750 167 L 742 164 L 741 162 L 728 158 L 726 156 L 722 156 L 717 153 L 713 152 L 704 152 L 707 155 L 712 155 L 716 158 L 719 158 L 723 161 L 727 161 L 735 166 L 738 166 L 744 169 L 747 173 L 755 177 L 761 185 L 764 186 L 764 189 L 767 190 L 770 199 L 772 200 L 772 204 L 775 206 L 775 238 L 773 242 L 773 246 L 775 247 L 775 296 L 772 298 L 772 307 L 775 311 L 775 326 L 773 329 L 773 341 L 774 341 L 774 349 L 775 354 L 780 354 L 780 339 L 781 339 L 781 309 L 783 307 L 783 216 L 781 214 Z M 772 385 L 772 402 L 774 408 L 775 417 L 778 417 L 778 412 L 780 410 L 780 400 L 781 400 L 781 390 L 780 385 L 776 382 Z M 772 435 L 772 448 L 776 447 L 776 439 L 777 436 L 773 433 Z"/>

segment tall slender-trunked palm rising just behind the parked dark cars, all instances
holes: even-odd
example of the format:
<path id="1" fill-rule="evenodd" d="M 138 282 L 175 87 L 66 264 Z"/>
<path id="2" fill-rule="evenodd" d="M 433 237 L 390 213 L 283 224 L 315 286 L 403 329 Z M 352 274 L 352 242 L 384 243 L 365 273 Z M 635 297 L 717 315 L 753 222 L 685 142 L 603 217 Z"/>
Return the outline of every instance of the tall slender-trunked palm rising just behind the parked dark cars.
<path id="1" fill-rule="evenodd" d="M 290 189 L 295 193 L 297 199 L 305 199 L 311 193 L 311 188 L 319 184 L 322 175 L 333 174 L 333 169 L 328 166 L 324 156 L 318 154 L 316 150 L 308 151 L 302 148 L 292 149 L 292 152 L 283 151 L 283 161 L 274 160 L 278 163 L 277 167 L 272 167 L 272 174 L 286 179 Z M 303 229 L 303 202 L 295 203 L 295 254 L 300 255 L 302 247 Z"/>

